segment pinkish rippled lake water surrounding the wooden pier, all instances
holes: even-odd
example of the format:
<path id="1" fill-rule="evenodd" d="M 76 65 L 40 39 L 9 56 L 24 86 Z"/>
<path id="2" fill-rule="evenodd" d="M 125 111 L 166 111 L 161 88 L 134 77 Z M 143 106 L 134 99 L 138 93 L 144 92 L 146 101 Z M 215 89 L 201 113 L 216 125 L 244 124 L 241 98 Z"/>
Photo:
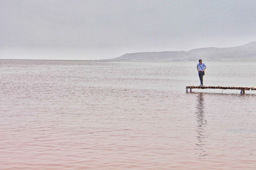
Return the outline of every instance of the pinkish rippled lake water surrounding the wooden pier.
<path id="1" fill-rule="evenodd" d="M 256 86 L 256 62 L 204 85 Z M 256 91 L 197 62 L 0 60 L 1 170 L 256 169 Z"/>

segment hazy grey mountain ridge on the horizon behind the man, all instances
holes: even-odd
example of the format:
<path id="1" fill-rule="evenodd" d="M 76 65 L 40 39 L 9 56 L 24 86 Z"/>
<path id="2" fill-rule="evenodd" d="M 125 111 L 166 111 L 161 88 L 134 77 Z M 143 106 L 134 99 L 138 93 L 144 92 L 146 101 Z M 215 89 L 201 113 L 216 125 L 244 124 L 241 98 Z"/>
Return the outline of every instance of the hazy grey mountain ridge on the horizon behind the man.
<path id="1" fill-rule="evenodd" d="M 136 61 L 256 61 L 256 41 L 229 48 L 197 48 L 190 51 L 127 53 L 107 60 Z"/>

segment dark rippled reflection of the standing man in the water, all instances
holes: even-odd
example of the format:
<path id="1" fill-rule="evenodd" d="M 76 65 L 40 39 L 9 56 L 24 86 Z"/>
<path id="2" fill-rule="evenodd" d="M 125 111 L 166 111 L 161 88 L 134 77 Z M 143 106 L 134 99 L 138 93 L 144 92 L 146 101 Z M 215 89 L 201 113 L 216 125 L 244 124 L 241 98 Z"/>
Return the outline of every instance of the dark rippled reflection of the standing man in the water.
<path id="1" fill-rule="evenodd" d="M 197 140 L 198 143 L 196 144 L 199 148 L 199 156 L 206 156 L 206 151 L 204 150 L 204 146 L 206 145 L 206 138 L 208 138 L 205 134 L 204 128 L 207 125 L 207 121 L 205 119 L 204 113 L 204 95 L 202 93 L 198 94 L 198 102 L 197 102 L 197 111 L 196 111 L 196 118 L 197 118 Z M 201 158 L 200 158 L 201 159 Z"/>

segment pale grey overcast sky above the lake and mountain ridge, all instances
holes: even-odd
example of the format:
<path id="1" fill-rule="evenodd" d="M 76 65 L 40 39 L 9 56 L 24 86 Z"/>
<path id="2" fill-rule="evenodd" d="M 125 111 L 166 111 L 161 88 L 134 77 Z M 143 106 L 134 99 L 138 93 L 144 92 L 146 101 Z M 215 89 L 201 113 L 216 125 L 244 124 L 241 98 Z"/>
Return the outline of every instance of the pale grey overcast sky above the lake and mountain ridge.
<path id="1" fill-rule="evenodd" d="M 256 41 L 256 0 L 0 0 L 0 58 L 99 60 Z"/>

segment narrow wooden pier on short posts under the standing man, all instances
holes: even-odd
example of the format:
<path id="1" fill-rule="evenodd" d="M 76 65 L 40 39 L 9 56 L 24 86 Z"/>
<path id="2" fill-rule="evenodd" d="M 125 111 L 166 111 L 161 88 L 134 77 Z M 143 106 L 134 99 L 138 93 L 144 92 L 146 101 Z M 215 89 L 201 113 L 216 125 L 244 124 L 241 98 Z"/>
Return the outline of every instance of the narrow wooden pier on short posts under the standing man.
<path id="1" fill-rule="evenodd" d="M 192 92 L 192 89 L 235 89 L 241 90 L 240 94 L 244 94 L 245 90 L 256 90 L 256 87 L 186 86 L 186 91 L 188 89 L 190 89 L 190 92 Z"/>

